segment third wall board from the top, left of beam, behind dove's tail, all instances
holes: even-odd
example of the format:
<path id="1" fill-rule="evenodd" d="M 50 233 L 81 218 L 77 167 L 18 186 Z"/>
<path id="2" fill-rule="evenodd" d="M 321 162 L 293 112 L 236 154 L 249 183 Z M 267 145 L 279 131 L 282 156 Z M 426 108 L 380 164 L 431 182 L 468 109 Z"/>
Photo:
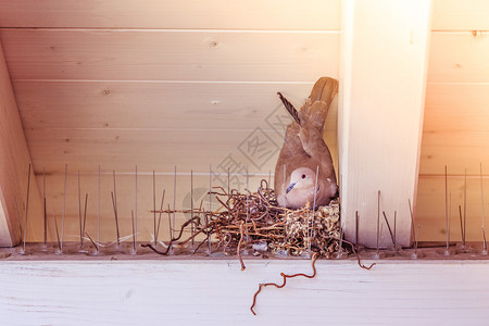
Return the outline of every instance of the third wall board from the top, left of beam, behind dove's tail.
<path id="1" fill-rule="evenodd" d="M 249 130 L 287 120 L 283 92 L 300 108 L 313 83 L 14 83 L 24 126 L 35 129 Z M 202 123 L 205 121 L 206 123 Z M 336 129 L 336 125 L 331 126 Z"/>

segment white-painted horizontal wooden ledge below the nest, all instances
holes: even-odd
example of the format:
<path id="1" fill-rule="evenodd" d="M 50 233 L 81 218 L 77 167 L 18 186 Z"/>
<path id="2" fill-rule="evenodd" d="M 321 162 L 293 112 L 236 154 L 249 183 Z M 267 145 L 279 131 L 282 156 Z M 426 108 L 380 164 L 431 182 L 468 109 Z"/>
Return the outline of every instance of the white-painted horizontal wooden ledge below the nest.
<path id="1" fill-rule="evenodd" d="M 482 325 L 487 261 L 0 261 L 1 325 Z"/>

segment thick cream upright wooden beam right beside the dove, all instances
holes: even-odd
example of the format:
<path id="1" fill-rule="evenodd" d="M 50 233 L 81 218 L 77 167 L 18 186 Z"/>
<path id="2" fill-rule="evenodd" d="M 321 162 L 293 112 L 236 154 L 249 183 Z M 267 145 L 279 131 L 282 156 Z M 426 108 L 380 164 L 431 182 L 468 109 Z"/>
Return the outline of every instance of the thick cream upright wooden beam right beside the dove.
<path id="1" fill-rule="evenodd" d="M 377 244 L 391 239 L 381 212 L 393 224 L 399 244 L 409 244 L 408 200 L 416 198 L 426 84 L 430 1 L 342 2 L 339 174 L 346 236 Z"/>

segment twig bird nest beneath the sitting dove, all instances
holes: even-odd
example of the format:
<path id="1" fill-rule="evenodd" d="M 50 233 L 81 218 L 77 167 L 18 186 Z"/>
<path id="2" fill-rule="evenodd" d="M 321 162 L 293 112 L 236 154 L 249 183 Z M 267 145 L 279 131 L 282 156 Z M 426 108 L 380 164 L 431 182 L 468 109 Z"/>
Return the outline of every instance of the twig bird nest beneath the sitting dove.
<path id="1" fill-rule="evenodd" d="M 242 193 L 236 189 L 226 191 L 222 187 L 215 187 L 211 195 L 217 200 L 220 208 L 214 211 L 183 211 L 190 213 L 191 218 L 181 226 L 178 237 L 172 239 L 171 246 L 184 246 L 198 235 L 204 235 L 205 240 L 196 251 L 210 241 L 213 252 L 222 250 L 226 254 L 237 253 L 241 264 L 243 252 L 290 256 L 310 256 L 316 252 L 321 256 L 330 258 L 340 249 L 338 201 L 331 201 L 329 205 L 316 210 L 310 204 L 300 210 L 280 208 L 266 180 L 261 181 L 255 192 Z M 195 233 L 186 240 L 180 240 L 184 229 L 190 225 L 193 225 Z M 151 248 L 150 244 L 145 247 Z M 244 268 L 243 264 L 242 267 Z"/>

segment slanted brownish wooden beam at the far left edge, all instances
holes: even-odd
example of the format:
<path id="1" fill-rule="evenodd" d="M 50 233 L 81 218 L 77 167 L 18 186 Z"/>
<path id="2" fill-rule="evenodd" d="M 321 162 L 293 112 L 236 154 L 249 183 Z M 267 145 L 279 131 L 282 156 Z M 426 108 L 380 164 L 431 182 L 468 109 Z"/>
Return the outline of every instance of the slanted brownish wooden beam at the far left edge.
<path id="1" fill-rule="evenodd" d="M 0 45 L 0 247 L 17 244 L 22 237 L 18 214 L 25 218 L 29 151 L 18 116 L 15 97 Z M 42 204 L 34 173 L 30 175 L 27 237 L 41 231 L 34 225 L 42 220 Z"/>

